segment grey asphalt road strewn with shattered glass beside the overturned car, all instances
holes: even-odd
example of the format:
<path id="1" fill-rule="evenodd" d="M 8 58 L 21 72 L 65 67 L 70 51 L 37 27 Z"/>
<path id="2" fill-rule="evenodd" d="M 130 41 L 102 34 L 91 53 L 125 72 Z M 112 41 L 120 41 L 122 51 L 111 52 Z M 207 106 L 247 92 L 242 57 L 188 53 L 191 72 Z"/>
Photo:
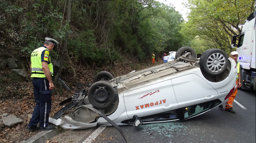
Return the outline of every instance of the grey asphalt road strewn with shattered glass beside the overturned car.
<path id="1" fill-rule="evenodd" d="M 128 143 L 255 142 L 255 92 L 238 90 L 235 100 L 243 106 L 242 108 L 237 103 L 233 103 L 233 110 L 236 111 L 236 114 L 217 107 L 185 121 L 142 125 L 137 128 L 133 126 L 120 127 Z M 225 105 L 223 104 L 223 106 Z M 102 129 L 102 132 L 95 133 L 98 128 L 97 126 L 87 130 L 67 131 L 50 140 L 72 143 L 125 143 L 122 135 L 113 126 L 108 126 L 104 130 Z M 96 134 L 96 138 L 88 141 L 91 134 Z"/>

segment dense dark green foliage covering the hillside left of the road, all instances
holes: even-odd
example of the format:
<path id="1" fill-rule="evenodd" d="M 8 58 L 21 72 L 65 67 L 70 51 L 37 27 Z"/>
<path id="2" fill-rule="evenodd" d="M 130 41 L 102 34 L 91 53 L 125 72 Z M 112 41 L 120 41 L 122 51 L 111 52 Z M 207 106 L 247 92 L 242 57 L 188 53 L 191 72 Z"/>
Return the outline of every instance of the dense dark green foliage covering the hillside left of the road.
<path id="1" fill-rule="evenodd" d="M 152 52 L 176 51 L 190 40 L 182 34 L 181 14 L 154 0 L 72 1 L 70 25 L 66 1 L 0 1 L 0 39 L 22 55 L 50 37 L 60 42 L 51 55 L 60 57 L 66 31 L 71 33 L 68 53 L 98 65 L 122 56 L 143 61 Z"/>

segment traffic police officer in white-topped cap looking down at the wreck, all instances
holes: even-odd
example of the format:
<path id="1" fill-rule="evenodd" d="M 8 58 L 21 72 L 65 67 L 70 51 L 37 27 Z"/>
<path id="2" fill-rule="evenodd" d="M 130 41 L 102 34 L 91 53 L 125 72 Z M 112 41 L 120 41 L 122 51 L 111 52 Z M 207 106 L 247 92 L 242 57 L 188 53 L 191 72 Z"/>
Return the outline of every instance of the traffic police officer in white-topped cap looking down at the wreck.
<path id="1" fill-rule="evenodd" d="M 55 126 L 49 125 L 49 113 L 51 111 L 51 95 L 54 88 L 51 77 L 53 76 L 53 64 L 50 52 L 59 44 L 54 39 L 45 38 L 44 45 L 34 50 L 31 54 L 30 69 L 34 87 L 36 106 L 32 118 L 28 123 L 28 131 L 53 130 Z M 39 122 L 39 127 L 37 124 Z"/>

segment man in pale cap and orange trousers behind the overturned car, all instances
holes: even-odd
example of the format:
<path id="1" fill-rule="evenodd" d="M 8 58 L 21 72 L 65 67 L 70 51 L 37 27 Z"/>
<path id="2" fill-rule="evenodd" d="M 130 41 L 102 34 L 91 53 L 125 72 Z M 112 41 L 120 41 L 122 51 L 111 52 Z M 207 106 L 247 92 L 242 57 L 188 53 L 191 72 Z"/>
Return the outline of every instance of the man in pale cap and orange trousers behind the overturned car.
<path id="1" fill-rule="evenodd" d="M 236 66 L 237 66 L 236 85 L 237 85 L 237 87 L 241 87 L 242 85 L 241 85 L 241 79 L 240 79 L 240 70 L 241 70 L 241 69 L 240 69 L 240 62 L 237 61 L 238 52 L 237 52 L 237 51 L 231 52 L 231 53 L 230 53 L 230 57 L 231 57 L 233 60 L 235 60 Z M 232 107 L 233 107 L 233 101 L 234 101 L 234 99 L 235 99 L 235 97 L 236 97 L 236 94 L 237 94 L 237 87 L 236 87 L 234 93 L 228 98 L 229 101 L 226 102 L 225 111 L 228 111 L 228 112 L 230 112 L 230 113 L 236 113 L 236 112 L 233 110 Z M 223 106 L 220 105 L 219 107 L 222 108 Z"/>

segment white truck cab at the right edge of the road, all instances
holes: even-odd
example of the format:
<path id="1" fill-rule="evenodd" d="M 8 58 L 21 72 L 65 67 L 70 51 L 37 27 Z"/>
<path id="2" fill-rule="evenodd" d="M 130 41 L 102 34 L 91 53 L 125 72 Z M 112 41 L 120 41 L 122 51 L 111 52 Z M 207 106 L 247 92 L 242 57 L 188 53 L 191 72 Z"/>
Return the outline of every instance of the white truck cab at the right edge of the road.
<path id="1" fill-rule="evenodd" d="M 241 68 L 242 89 L 255 91 L 255 11 L 249 15 L 239 35 L 232 37 L 231 47 L 237 46 L 238 59 Z M 239 36 L 238 44 L 236 38 Z"/>

